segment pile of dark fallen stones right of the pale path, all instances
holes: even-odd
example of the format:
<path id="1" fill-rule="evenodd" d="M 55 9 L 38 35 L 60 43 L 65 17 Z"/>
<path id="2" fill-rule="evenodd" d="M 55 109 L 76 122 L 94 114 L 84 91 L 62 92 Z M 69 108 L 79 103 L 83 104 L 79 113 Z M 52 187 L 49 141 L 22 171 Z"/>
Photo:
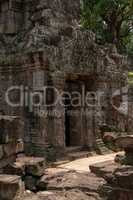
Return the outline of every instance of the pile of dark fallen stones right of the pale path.
<path id="1" fill-rule="evenodd" d="M 90 166 L 90 169 L 106 180 L 99 190 L 103 199 L 133 199 L 133 166 L 104 162 Z"/>

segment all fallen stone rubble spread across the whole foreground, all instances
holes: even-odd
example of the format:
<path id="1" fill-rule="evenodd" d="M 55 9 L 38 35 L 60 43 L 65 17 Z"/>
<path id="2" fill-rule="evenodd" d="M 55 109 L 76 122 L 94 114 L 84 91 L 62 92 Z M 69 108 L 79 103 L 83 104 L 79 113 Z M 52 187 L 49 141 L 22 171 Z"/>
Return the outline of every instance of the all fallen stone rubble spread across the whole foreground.
<path id="1" fill-rule="evenodd" d="M 46 168 L 44 158 L 19 157 L 0 175 L 0 200 L 132 200 L 133 167 L 106 161 L 91 172 Z"/>

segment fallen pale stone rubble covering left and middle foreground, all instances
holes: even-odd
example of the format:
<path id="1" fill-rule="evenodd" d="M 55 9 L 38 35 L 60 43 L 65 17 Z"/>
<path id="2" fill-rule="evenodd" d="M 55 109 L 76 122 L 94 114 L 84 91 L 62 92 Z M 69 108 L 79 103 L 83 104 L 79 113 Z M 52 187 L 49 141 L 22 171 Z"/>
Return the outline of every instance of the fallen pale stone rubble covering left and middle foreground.
<path id="1" fill-rule="evenodd" d="M 44 158 L 20 157 L 3 171 L 0 200 L 102 200 L 98 191 L 106 183 L 89 172 L 46 169 Z"/>

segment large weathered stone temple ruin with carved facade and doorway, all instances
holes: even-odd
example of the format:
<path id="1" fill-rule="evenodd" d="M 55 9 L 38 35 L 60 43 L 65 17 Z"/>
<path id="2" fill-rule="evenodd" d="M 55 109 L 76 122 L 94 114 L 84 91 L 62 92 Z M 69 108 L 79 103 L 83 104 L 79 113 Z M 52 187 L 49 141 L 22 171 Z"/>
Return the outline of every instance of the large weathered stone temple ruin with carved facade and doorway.
<path id="1" fill-rule="evenodd" d="M 116 109 L 123 91 L 112 96 L 126 86 L 126 57 L 113 45 L 96 44 L 79 20 L 80 0 L 0 0 L 1 171 L 22 152 L 102 151 L 107 125 L 128 132 L 128 117 Z M 44 88 L 49 106 L 38 103 Z M 65 94 L 63 103 L 57 91 Z M 70 105 L 77 93 L 91 94 L 90 106 Z"/>

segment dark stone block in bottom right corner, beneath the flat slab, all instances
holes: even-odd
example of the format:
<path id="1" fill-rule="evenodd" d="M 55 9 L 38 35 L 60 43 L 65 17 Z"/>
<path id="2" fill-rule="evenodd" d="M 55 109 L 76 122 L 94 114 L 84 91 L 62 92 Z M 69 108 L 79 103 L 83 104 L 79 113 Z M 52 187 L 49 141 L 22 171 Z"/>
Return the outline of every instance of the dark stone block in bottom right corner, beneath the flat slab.
<path id="1" fill-rule="evenodd" d="M 132 200 L 133 166 L 119 166 L 112 176 L 112 182 L 101 187 L 101 196 L 103 195 L 107 200 Z"/>

